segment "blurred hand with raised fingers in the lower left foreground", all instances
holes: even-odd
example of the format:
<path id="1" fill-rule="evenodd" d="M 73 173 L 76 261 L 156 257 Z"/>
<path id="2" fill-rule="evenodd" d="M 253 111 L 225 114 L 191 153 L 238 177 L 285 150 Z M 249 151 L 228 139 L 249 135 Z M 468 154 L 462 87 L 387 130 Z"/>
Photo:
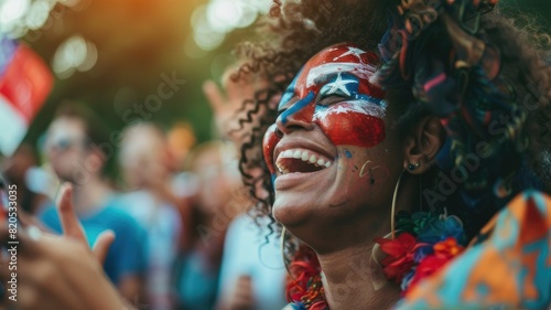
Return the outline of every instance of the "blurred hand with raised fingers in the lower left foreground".
<path id="1" fill-rule="evenodd" d="M 114 240 L 112 232 L 98 237 L 93 252 L 71 196 L 72 188 L 64 186 L 57 204 L 62 236 L 41 232 L 36 226 L 19 227 L 15 268 L 8 267 L 13 260 L 10 255 L 2 257 L 0 278 L 12 289 L 6 291 L 3 303 L 10 309 L 131 309 L 109 282 L 100 264 Z M 4 246 L 11 240 L 6 228 L 0 232 L 0 240 Z M 14 286 L 9 284 L 13 280 Z"/>

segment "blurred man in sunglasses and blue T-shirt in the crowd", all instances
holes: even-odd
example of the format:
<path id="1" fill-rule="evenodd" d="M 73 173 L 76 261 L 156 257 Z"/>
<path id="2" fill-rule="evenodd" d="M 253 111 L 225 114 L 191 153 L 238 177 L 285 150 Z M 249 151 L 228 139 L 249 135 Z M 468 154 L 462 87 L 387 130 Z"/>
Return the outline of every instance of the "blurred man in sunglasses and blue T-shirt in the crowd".
<path id="1" fill-rule="evenodd" d="M 100 124 L 83 108 L 65 107 L 48 128 L 47 159 L 55 174 L 73 184 L 74 209 L 90 246 L 101 232 L 110 229 L 115 233 L 104 269 L 128 300 L 138 301 L 143 297 L 147 268 L 145 232 L 115 205 L 112 192 L 102 180 L 108 154 L 98 147 L 105 143 L 97 130 Z M 63 232 L 53 205 L 41 210 L 39 217 L 52 231 Z"/>

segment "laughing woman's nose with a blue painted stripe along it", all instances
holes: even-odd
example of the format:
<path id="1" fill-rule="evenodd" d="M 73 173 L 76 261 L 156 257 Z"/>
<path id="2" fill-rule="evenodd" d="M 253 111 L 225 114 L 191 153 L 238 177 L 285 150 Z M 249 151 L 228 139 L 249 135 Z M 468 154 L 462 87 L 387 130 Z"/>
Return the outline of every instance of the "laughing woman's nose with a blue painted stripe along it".
<path id="1" fill-rule="evenodd" d="M 276 121 L 277 129 L 289 135 L 294 130 L 312 130 L 314 129 L 314 105 L 315 94 L 310 92 L 306 97 L 294 103 L 285 111 L 283 111 Z"/>

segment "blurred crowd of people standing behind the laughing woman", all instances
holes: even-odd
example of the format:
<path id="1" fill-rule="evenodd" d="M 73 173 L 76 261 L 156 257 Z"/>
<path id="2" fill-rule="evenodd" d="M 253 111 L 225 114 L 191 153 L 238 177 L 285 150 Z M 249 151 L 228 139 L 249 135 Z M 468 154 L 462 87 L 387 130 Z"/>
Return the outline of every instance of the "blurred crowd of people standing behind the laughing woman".
<path id="1" fill-rule="evenodd" d="M 138 309 L 284 306 L 279 240 L 247 216 L 252 202 L 237 160 L 242 141 L 229 126 L 258 83 L 234 82 L 233 71 L 222 90 L 204 84 L 215 115 L 212 141 L 197 143 L 185 122 L 166 129 L 145 121 L 114 139 L 100 116 L 67 101 L 36 146 L 23 143 L 1 161 L 8 182 L 18 185 L 20 212 L 53 233 L 63 233 L 60 186 L 73 184 L 90 246 L 101 232 L 115 233 L 104 269 Z"/>

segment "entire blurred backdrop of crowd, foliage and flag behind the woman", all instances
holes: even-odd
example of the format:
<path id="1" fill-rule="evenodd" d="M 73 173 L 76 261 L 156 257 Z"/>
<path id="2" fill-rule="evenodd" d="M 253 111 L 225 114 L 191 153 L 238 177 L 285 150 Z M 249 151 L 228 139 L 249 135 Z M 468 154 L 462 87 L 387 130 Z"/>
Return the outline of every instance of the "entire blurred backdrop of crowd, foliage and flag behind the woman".
<path id="1" fill-rule="evenodd" d="M 257 81 L 226 83 L 228 96 L 218 93 L 236 61 L 233 50 L 253 38 L 251 25 L 271 1 L 0 0 L 0 171 L 18 186 L 20 211 L 57 233 L 60 179 L 75 184 L 87 235 L 108 228 L 127 240 L 112 246 L 106 267 L 136 267 L 123 280 L 109 274 L 129 301 L 155 310 L 249 309 L 242 296 L 250 309 L 285 303 L 274 224 L 246 216 L 253 202 L 237 169 L 242 139 L 227 132 Z M 549 0 L 500 1 L 521 26 L 551 29 Z M 52 84 L 50 72 L 53 88 L 32 118 Z M 209 79 L 218 88 L 205 84 L 207 100 Z M 95 111 L 96 130 L 74 119 L 47 130 L 67 101 Z M 104 145 L 91 131 L 106 130 L 110 152 L 100 153 L 90 148 Z M 12 156 L 24 132 L 25 143 Z M 100 158 L 108 175 L 100 175 Z M 122 289 L 128 278 L 131 290 Z"/>

